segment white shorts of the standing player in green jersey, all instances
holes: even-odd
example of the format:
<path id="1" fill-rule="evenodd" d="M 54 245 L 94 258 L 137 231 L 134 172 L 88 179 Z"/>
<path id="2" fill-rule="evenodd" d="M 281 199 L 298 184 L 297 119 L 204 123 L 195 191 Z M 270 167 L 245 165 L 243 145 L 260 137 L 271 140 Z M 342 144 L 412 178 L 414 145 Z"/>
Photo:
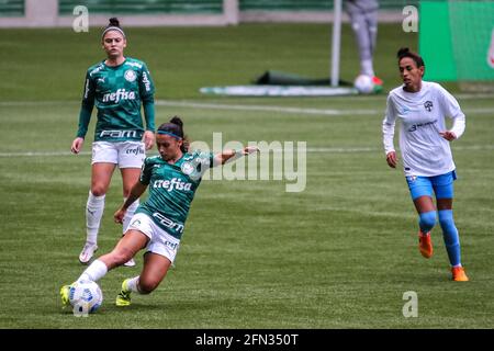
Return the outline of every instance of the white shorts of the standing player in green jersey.
<path id="1" fill-rule="evenodd" d="M 141 168 L 146 158 L 146 149 L 142 141 L 94 141 L 92 143 L 91 165 L 108 162 L 119 168 Z"/>

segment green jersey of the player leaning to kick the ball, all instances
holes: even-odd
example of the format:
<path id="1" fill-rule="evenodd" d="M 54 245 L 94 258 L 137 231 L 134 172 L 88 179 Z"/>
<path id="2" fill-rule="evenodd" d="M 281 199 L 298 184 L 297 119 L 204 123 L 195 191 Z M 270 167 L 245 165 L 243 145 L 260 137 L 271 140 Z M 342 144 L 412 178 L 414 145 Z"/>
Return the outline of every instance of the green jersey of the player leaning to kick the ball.
<path id="1" fill-rule="evenodd" d="M 149 195 L 135 213 L 148 215 L 161 229 L 180 239 L 201 176 L 212 167 L 213 157 L 211 152 L 187 152 L 173 165 L 160 156 L 146 158 L 139 181 L 149 185 Z"/>

